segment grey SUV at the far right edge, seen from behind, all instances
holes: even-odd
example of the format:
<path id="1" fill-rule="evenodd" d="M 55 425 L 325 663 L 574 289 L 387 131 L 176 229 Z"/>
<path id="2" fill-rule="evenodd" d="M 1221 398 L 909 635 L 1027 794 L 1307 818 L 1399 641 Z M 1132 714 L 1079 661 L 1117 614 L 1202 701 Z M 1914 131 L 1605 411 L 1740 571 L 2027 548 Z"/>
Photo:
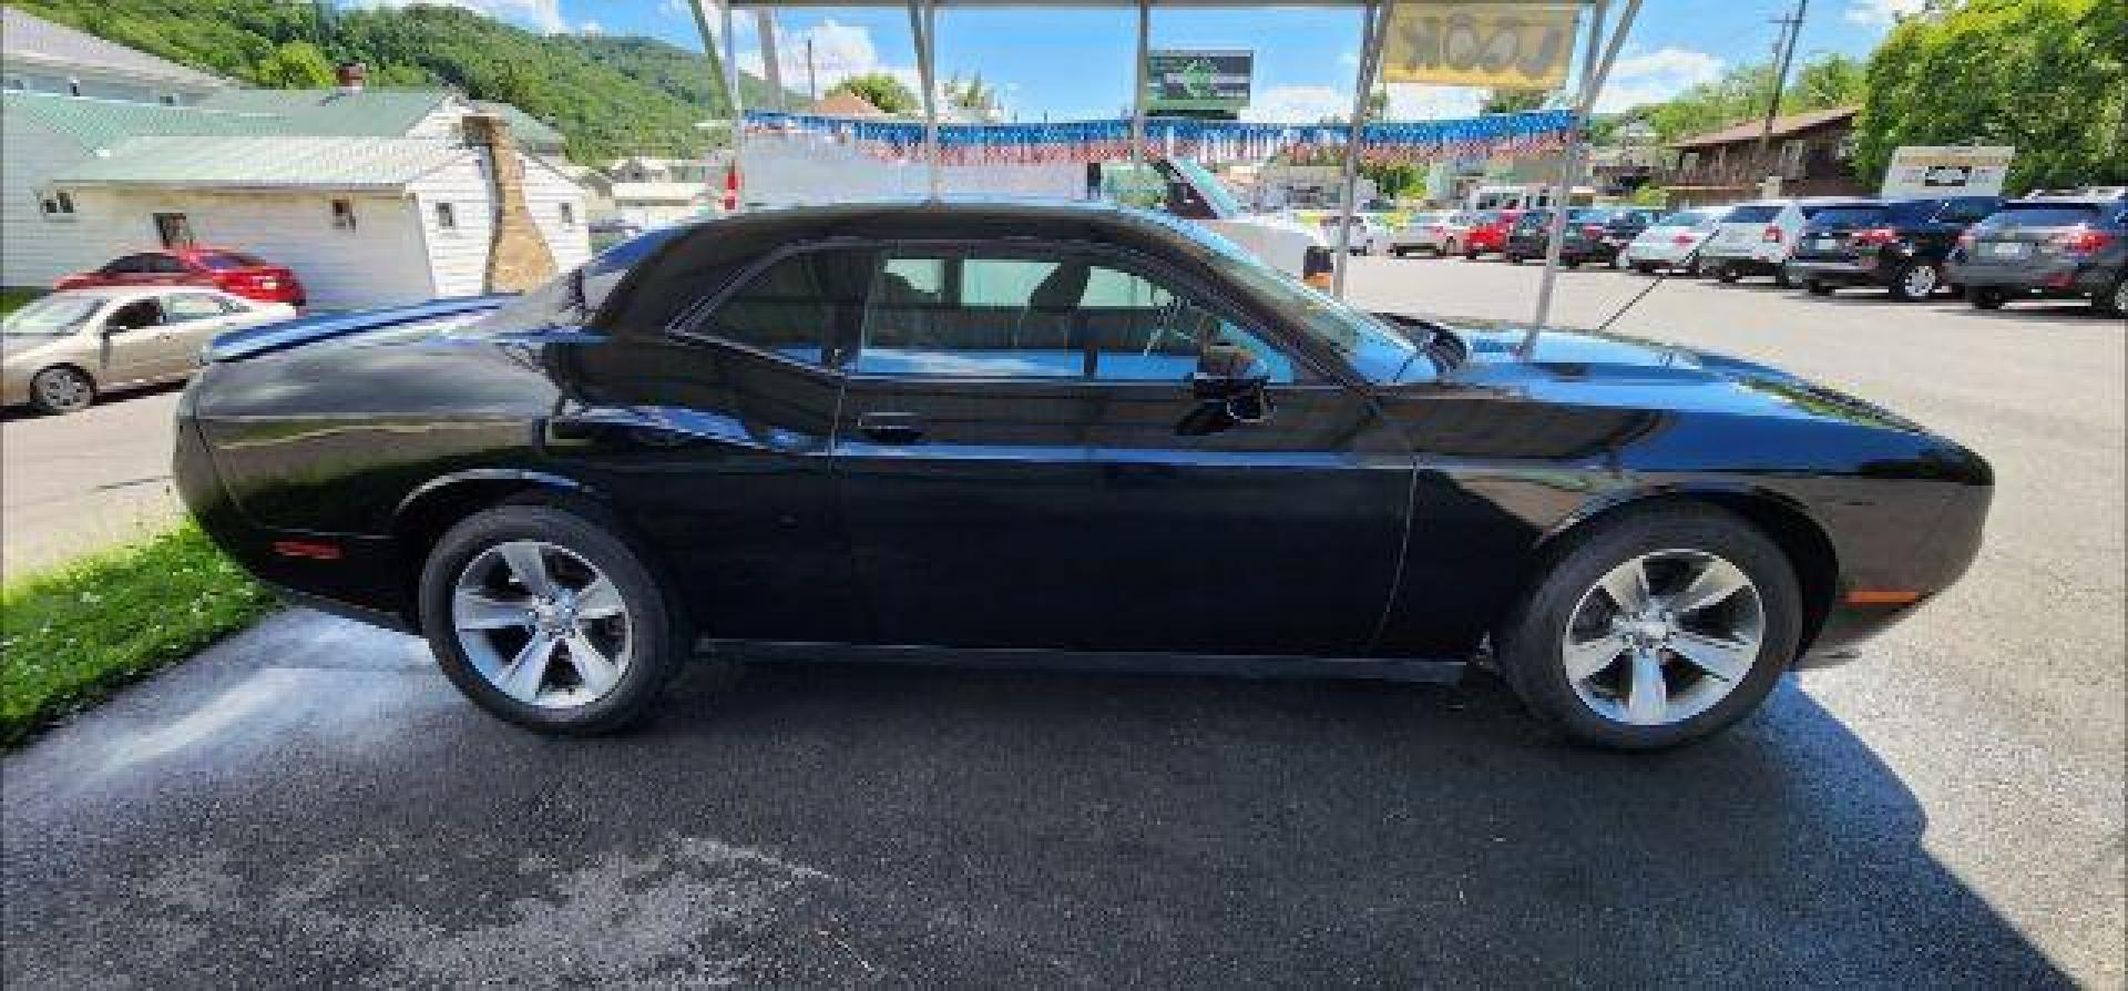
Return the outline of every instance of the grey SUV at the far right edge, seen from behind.
<path id="1" fill-rule="evenodd" d="M 2100 313 L 2128 315 L 2128 200 L 2015 200 L 1977 223 L 1951 251 L 1949 276 L 1973 306 L 2028 296 L 2090 296 Z"/>

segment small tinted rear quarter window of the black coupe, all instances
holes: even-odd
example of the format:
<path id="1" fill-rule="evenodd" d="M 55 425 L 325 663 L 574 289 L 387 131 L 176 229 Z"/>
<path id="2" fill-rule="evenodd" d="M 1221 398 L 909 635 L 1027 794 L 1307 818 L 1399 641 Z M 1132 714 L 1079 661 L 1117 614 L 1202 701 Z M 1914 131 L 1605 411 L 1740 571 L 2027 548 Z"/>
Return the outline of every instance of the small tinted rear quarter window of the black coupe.
<path id="1" fill-rule="evenodd" d="M 702 330 L 794 362 L 826 364 L 832 330 L 864 304 L 870 268 L 868 251 L 789 255 L 728 296 Z"/>

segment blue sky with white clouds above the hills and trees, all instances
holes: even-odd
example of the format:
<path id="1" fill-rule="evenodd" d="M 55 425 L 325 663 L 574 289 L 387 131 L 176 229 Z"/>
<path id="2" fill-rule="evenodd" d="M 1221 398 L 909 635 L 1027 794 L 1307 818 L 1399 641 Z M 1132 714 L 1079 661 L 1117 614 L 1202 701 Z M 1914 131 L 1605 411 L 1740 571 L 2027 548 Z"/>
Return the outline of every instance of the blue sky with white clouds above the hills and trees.
<path id="1" fill-rule="evenodd" d="M 406 0 L 358 0 L 406 2 Z M 428 0 L 436 2 L 436 0 Z M 545 32 L 649 34 L 700 49 L 689 0 L 447 0 Z M 1766 60 L 1792 0 L 1647 0 L 1600 108 L 1662 100 L 1726 66 Z M 1800 55 L 1864 55 L 1896 13 L 1919 0 L 1817 0 Z M 1130 9 L 938 11 L 941 77 L 981 72 L 1019 119 L 1113 117 L 1130 104 Z M 741 64 L 760 70 L 753 15 L 738 17 Z M 804 43 L 813 43 L 819 87 L 843 74 L 896 72 L 915 83 L 904 9 L 832 9 L 777 15 L 785 85 L 804 91 Z M 1349 113 L 1360 15 L 1319 9 L 1153 11 L 1153 47 L 1256 51 L 1256 119 L 1313 121 Z M 1460 117 L 1477 94 L 1453 87 L 1392 87 L 1392 117 Z"/>

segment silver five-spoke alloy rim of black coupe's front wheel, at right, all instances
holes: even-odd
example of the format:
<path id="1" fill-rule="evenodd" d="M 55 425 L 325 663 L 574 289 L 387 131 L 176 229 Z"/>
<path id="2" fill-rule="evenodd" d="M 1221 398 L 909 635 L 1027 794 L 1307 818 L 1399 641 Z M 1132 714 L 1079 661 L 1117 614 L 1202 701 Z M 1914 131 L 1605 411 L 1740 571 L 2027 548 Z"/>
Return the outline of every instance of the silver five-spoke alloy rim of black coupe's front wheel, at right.
<path id="1" fill-rule="evenodd" d="M 1764 642 L 1766 606 L 1741 568 L 1707 551 L 1653 551 L 1581 593 L 1560 664 L 1596 715 L 1673 725 L 1728 698 Z"/>

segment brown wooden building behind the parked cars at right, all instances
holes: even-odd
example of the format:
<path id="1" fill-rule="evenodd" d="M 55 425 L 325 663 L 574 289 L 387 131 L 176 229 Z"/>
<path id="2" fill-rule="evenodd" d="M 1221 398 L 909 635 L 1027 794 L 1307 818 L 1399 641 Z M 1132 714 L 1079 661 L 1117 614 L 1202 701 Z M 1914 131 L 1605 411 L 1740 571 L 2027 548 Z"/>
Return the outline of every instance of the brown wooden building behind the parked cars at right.
<path id="1" fill-rule="evenodd" d="M 1836 106 L 1775 117 L 1764 155 L 1758 147 L 1762 119 L 1673 140 L 1656 183 L 1668 189 L 1673 206 L 1753 200 L 1775 174 L 1781 196 L 1866 196 L 1868 187 L 1849 168 L 1856 111 Z"/>

